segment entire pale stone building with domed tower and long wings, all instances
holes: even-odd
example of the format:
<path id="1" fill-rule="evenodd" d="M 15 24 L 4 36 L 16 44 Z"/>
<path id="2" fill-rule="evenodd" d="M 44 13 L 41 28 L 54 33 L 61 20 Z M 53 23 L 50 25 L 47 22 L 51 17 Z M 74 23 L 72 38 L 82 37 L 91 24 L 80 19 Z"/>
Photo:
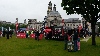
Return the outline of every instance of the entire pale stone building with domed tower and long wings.
<path id="1" fill-rule="evenodd" d="M 29 27 L 35 28 L 37 30 L 40 30 L 42 27 L 50 27 L 53 25 L 62 26 L 62 20 L 64 20 L 64 26 L 70 27 L 70 28 L 77 28 L 79 25 L 82 26 L 82 28 L 85 28 L 87 26 L 87 29 L 89 32 L 92 32 L 91 30 L 91 24 L 89 22 L 86 22 L 84 18 L 81 20 L 79 18 L 69 18 L 69 19 L 62 19 L 60 13 L 56 10 L 56 5 L 52 7 L 51 1 L 48 4 L 48 10 L 47 15 L 44 18 L 43 22 L 37 22 L 37 19 L 29 19 Z M 96 25 L 96 31 L 98 29 L 98 26 Z"/>

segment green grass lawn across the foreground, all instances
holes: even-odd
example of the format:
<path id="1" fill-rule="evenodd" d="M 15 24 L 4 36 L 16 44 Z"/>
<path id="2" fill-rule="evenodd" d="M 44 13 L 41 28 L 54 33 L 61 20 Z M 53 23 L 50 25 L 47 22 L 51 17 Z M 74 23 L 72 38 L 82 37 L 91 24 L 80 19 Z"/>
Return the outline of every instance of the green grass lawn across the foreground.
<path id="1" fill-rule="evenodd" d="M 81 50 L 68 52 L 64 50 L 63 41 L 0 38 L 0 56 L 100 56 L 100 38 L 96 38 L 97 45 L 81 42 Z"/>

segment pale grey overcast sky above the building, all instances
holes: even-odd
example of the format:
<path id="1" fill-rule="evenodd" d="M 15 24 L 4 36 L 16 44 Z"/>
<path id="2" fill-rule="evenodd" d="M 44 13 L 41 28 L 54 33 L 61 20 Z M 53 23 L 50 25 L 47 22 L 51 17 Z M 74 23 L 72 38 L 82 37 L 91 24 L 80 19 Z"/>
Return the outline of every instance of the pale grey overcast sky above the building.
<path id="1" fill-rule="evenodd" d="M 63 19 L 81 19 L 80 15 L 67 15 L 61 7 L 62 0 L 0 0 L 0 20 L 15 22 L 18 18 L 21 23 L 24 19 L 43 21 L 47 15 L 49 1 L 56 4 L 56 9 Z"/>

